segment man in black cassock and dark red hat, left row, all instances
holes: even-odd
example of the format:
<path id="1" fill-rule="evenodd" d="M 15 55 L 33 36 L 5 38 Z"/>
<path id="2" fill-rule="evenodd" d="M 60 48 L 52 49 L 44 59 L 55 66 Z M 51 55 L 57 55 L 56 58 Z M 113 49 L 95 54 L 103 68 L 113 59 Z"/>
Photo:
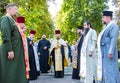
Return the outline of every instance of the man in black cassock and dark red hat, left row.
<path id="1" fill-rule="evenodd" d="M 30 36 L 27 38 L 28 42 L 28 54 L 29 54 L 29 65 L 30 65 L 30 80 L 36 80 L 37 79 L 37 68 L 36 68 L 36 62 L 35 62 L 35 55 L 34 55 L 34 49 L 33 49 L 33 38 L 36 34 L 36 31 L 31 30 Z"/>

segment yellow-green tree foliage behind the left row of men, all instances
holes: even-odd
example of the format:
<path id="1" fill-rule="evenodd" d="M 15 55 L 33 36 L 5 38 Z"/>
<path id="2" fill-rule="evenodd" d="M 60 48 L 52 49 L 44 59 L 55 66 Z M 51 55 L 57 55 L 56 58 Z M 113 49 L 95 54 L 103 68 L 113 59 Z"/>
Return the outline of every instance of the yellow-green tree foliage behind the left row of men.
<path id="1" fill-rule="evenodd" d="M 17 4 L 20 16 L 25 17 L 27 35 L 30 29 L 37 31 L 36 38 L 41 37 L 42 34 L 46 34 L 48 37 L 53 34 L 54 25 L 48 12 L 46 0 L 3 0 L 3 3 L 0 3 L 0 6 L 2 5 L 1 11 L 8 2 Z M 4 12 L 1 13 L 0 16 L 4 14 Z"/>

